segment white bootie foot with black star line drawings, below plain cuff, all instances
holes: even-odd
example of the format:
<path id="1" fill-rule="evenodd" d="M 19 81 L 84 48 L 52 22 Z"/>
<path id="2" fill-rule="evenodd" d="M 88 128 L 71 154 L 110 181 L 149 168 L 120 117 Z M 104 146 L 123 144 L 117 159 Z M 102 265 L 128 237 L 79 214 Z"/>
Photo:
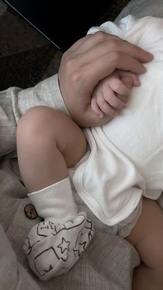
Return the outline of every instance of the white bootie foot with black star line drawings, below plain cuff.
<path id="1" fill-rule="evenodd" d="M 70 270 L 93 238 L 93 223 L 86 212 L 79 212 L 64 224 L 41 221 L 23 244 L 32 271 L 48 280 Z"/>

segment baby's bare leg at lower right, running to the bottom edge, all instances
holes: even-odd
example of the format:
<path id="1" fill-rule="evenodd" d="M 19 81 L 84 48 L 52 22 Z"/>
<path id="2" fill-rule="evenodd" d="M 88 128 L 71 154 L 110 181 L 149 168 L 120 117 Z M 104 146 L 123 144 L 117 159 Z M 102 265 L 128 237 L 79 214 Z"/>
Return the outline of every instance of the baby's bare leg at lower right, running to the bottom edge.
<path id="1" fill-rule="evenodd" d="M 143 198 L 142 214 L 126 237 L 142 264 L 133 273 L 133 290 L 163 289 L 163 212 L 155 201 Z"/>

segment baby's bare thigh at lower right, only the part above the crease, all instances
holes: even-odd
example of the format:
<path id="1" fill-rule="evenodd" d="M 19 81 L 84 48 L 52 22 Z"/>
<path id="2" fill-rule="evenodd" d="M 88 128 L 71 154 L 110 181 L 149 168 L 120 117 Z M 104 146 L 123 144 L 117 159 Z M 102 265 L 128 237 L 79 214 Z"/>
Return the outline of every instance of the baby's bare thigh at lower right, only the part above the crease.
<path id="1" fill-rule="evenodd" d="M 155 201 L 143 198 L 142 213 L 126 239 L 146 266 L 163 269 L 163 212 Z"/>

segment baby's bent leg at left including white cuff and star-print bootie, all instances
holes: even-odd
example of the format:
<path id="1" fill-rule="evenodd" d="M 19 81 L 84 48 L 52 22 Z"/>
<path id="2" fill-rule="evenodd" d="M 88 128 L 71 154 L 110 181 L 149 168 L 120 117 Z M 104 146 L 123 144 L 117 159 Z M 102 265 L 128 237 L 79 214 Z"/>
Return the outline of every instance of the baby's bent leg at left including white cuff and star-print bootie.
<path id="1" fill-rule="evenodd" d="M 17 155 L 28 197 L 44 219 L 23 246 L 41 279 L 66 273 L 93 237 L 93 225 L 77 210 L 68 178 L 86 152 L 86 138 L 73 120 L 50 107 L 29 109 L 17 127 Z"/>

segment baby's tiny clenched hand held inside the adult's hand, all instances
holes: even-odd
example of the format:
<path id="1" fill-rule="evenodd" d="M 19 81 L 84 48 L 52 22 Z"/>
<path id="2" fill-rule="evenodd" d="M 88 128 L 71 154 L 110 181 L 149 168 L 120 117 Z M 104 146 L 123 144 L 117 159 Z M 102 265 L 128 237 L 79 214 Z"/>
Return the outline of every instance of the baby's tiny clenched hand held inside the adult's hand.
<path id="1" fill-rule="evenodd" d="M 104 114 L 116 117 L 119 111 L 126 108 L 126 102 L 132 87 L 138 87 L 137 75 L 130 71 L 115 70 L 101 80 L 93 90 L 91 108 L 100 118 Z"/>

